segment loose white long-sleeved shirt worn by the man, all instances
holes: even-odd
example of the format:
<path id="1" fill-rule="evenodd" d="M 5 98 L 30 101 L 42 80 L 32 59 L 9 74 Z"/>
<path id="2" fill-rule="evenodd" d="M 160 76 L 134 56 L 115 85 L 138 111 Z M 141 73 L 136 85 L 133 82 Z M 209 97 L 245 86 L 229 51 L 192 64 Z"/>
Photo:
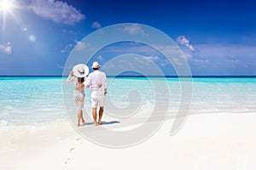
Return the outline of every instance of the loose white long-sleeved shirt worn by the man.
<path id="1" fill-rule="evenodd" d="M 102 84 L 102 88 L 98 88 L 98 84 Z M 107 77 L 102 71 L 96 70 L 89 74 L 84 82 L 85 86 L 90 86 L 90 97 L 99 97 L 104 95 L 104 88 L 107 88 Z"/>

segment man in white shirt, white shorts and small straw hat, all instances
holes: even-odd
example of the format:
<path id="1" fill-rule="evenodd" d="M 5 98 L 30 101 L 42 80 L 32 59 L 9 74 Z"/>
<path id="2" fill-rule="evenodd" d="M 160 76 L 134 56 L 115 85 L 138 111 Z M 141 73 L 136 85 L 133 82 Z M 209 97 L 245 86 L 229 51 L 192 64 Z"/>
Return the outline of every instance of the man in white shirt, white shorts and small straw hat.
<path id="1" fill-rule="evenodd" d="M 92 116 L 94 125 L 97 126 L 96 113 L 98 105 L 100 106 L 98 123 L 99 125 L 102 125 L 102 115 L 104 111 L 105 97 L 107 94 L 107 78 L 104 72 L 99 71 L 101 65 L 99 65 L 98 62 L 94 62 L 91 67 L 94 71 L 91 72 L 86 78 L 84 85 L 86 88 L 90 88 L 91 90 L 90 101 L 92 107 Z"/>

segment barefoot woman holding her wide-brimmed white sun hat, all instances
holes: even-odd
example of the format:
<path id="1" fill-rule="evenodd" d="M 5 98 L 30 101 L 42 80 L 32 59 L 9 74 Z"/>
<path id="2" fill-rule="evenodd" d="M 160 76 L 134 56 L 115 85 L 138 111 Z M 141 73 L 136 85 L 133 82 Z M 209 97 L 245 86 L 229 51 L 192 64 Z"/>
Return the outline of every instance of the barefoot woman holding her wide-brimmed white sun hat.
<path id="1" fill-rule="evenodd" d="M 78 127 L 84 124 L 83 109 L 84 109 L 84 81 L 89 73 L 87 65 L 79 64 L 73 67 L 73 71 L 69 72 L 67 83 L 74 82 L 74 98 L 78 110 Z M 82 123 L 82 124 L 80 124 Z"/>

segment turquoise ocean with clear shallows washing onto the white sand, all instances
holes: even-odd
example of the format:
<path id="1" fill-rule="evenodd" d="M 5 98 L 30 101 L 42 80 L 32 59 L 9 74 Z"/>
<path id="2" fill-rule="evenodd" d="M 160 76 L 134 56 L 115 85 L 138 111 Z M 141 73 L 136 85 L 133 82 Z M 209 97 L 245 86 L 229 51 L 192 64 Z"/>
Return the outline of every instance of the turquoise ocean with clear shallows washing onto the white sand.
<path id="1" fill-rule="evenodd" d="M 66 77 L 0 77 L 0 153 L 73 134 L 73 89 Z M 254 77 L 108 77 L 102 121 L 115 132 L 187 114 L 255 114 L 255 92 Z M 85 94 L 87 124 L 76 130 L 104 133 L 92 126 L 90 89 Z"/>

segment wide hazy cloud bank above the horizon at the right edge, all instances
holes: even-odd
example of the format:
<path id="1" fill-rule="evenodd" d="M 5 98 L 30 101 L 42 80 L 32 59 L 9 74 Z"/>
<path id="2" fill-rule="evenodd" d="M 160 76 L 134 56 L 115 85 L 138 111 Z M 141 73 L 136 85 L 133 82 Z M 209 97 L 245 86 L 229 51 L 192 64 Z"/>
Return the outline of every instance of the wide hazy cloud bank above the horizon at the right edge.
<path id="1" fill-rule="evenodd" d="M 248 65 L 256 67 L 256 48 L 243 44 L 196 44 L 196 52 L 189 63 L 197 68 L 218 68 L 219 71 L 230 67 L 242 70 Z"/>

